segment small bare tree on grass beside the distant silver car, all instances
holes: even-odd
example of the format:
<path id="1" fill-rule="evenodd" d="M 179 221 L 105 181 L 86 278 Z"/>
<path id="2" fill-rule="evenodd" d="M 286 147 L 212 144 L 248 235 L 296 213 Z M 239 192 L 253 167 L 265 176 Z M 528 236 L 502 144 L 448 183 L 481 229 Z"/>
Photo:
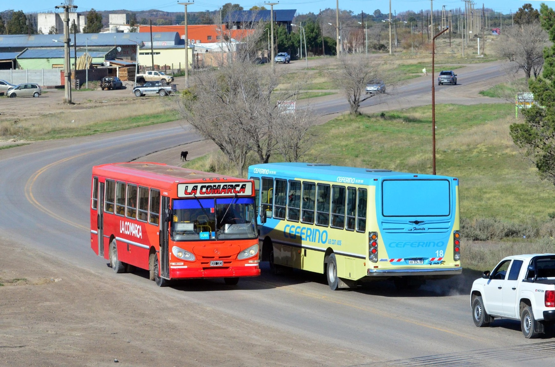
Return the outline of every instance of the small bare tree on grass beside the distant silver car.
<path id="1" fill-rule="evenodd" d="M 386 77 L 383 63 L 369 59 L 365 55 L 349 55 L 340 58 L 340 66 L 334 79 L 345 91 L 351 108 L 351 115 L 358 115 L 360 104 L 375 94 L 366 94 L 366 84 L 371 80 L 384 80 Z"/>

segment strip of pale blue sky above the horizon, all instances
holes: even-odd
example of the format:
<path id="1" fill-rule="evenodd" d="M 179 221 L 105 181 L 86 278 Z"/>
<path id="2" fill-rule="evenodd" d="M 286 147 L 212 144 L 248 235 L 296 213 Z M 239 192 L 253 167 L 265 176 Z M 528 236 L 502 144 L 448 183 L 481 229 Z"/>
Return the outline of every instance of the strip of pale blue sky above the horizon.
<path id="1" fill-rule="evenodd" d="M 8 0 L 3 0 L 0 5 L 0 10 L 14 9 L 22 10 L 24 12 L 49 12 L 54 10 L 54 6 L 60 4 L 61 0 L 23 0 L 19 2 L 11 2 Z M 219 9 L 225 3 L 238 3 L 245 9 L 249 9 L 252 6 L 258 5 L 263 6 L 264 1 L 256 2 L 255 0 L 248 1 L 230 1 L 230 0 L 204 0 L 196 1 L 193 5 L 188 7 L 188 11 L 205 11 L 205 10 L 216 10 Z M 504 14 L 509 14 L 511 11 L 514 13 L 519 7 L 525 3 L 532 3 L 534 8 L 539 9 L 539 5 L 542 2 L 546 2 L 549 6 L 555 8 L 555 1 L 517 1 L 517 0 L 489 0 L 484 2 L 486 7 L 492 8 L 495 11 L 500 11 Z M 9 5 L 7 6 L 7 4 Z M 179 12 L 183 11 L 183 6 L 178 5 L 177 1 L 166 1 L 166 0 L 75 0 L 75 5 L 78 6 L 78 11 L 88 11 L 91 7 L 97 10 L 118 10 L 125 9 L 128 11 L 143 11 L 148 9 L 158 9 L 165 12 Z M 446 9 L 456 9 L 464 8 L 464 3 L 460 0 L 442 0 L 434 1 L 433 9 L 442 8 L 445 5 Z M 335 0 L 282 0 L 278 5 L 274 6 L 274 9 L 297 9 L 298 13 L 317 13 L 320 9 L 325 8 L 335 8 Z M 482 2 L 476 2 L 476 8 L 482 7 Z M 266 6 L 266 8 L 270 8 Z M 365 13 L 374 13 L 376 9 L 380 9 L 382 13 L 389 12 L 389 1 L 388 0 L 340 0 L 339 8 L 351 10 L 354 13 L 360 13 L 364 11 Z M 421 9 L 430 9 L 430 1 L 422 0 L 391 0 L 391 12 L 402 12 L 407 10 L 420 11 Z"/>

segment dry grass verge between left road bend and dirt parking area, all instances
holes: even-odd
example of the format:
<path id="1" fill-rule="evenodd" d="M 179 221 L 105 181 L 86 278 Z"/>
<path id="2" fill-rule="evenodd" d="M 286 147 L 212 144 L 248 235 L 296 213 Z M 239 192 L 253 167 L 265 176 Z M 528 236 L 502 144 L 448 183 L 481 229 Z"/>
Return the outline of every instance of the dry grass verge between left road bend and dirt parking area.
<path id="1" fill-rule="evenodd" d="M 124 130 L 137 125 L 133 118 L 156 116 L 168 111 L 158 100 L 129 100 L 123 105 L 100 105 L 93 108 L 45 114 L 38 118 L 0 122 L 0 139 L 41 140 L 56 137 L 95 134 Z M 148 117 L 145 117 L 148 124 Z"/>

